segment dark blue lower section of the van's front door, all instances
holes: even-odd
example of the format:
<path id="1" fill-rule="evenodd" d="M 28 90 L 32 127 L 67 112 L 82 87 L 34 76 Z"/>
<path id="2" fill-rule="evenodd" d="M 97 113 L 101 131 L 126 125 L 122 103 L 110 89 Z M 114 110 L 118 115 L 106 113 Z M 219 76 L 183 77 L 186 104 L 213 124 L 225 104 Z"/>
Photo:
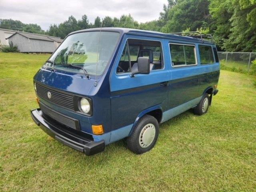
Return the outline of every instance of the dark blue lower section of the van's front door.
<path id="1" fill-rule="evenodd" d="M 158 80 L 158 78 L 155 79 Z M 122 81 L 120 83 L 122 84 Z M 151 106 L 161 104 L 166 98 L 166 86 L 161 86 L 160 83 L 112 92 L 112 129 L 133 124 L 140 112 Z"/>

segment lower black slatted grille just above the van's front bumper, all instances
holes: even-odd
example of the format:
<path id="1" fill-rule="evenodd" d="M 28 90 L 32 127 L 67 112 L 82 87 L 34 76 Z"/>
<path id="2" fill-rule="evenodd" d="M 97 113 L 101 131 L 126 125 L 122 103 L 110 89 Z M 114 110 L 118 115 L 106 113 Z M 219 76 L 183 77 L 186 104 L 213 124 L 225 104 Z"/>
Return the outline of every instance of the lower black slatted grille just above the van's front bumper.
<path id="1" fill-rule="evenodd" d="M 42 110 L 44 115 L 56 120 L 60 124 L 63 124 L 65 126 L 68 126 L 70 128 L 76 129 L 76 130 L 80 130 L 78 120 L 76 120 L 74 118 L 71 118 L 71 117 L 68 117 L 66 115 L 63 115 L 59 112 L 56 112 L 56 111 L 52 110 L 51 108 L 45 106 L 42 103 L 40 103 L 39 106 L 40 106 L 40 109 Z"/>

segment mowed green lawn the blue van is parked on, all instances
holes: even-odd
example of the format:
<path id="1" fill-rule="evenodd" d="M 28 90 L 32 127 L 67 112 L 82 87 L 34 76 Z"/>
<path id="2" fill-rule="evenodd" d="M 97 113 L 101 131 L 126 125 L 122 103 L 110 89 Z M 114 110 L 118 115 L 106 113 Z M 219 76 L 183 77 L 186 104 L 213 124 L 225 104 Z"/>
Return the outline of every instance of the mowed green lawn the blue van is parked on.
<path id="1" fill-rule="evenodd" d="M 184 112 L 160 125 L 142 155 L 124 141 L 94 156 L 46 135 L 30 118 L 33 76 L 49 55 L 0 53 L 0 191 L 255 191 L 253 77 L 221 71 L 203 116 Z"/>

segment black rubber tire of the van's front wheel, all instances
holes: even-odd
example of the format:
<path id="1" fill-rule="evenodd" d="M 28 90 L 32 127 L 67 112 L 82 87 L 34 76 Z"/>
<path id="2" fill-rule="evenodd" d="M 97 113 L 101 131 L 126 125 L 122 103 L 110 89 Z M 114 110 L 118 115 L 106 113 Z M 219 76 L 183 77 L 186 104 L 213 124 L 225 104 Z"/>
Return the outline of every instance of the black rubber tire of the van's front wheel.
<path id="1" fill-rule="evenodd" d="M 140 134 L 142 132 L 142 129 L 144 129 L 144 131 L 142 132 L 142 135 L 145 132 L 145 129 L 149 128 L 151 125 L 154 125 L 155 128 L 155 136 L 153 141 L 151 142 L 151 144 L 145 145 L 143 148 L 141 145 L 143 144 L 142 142 L 142 138 L 139 140 Z M 144 128 L 146 125 L 148 125 L 146 128 Z M 153 126 L 150 127 L 150 129 L 153 129 Z M 152 133 L 152 132 L 151 132 Z M 130 149 L 132 152 L 136 153 L 136 154 L 142 154 L 145 153 L 149 150 L 151 150 L 154 145 L 156 144 L 156 140 L 158 138 L 158 134 L 159 134 L 159 124 L 158 121 L 156 120 L 156 118 L 154 118 L 153 116 L 150 115 L 144 115 L 136 124 L 132 134 L 127 137 L 126 142 L 127 142 L 127 147 L 128 149 Z"/>

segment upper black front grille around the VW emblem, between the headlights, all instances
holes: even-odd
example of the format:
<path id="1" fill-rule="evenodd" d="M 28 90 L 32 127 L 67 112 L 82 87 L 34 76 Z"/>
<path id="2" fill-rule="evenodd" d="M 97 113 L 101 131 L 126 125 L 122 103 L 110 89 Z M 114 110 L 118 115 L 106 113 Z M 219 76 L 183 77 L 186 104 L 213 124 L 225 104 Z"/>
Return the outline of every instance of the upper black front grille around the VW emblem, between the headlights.
<path id="1" fill-rule="evenodd" d="M 51 98 L 48 98 L 48 92 L 51 94 Z M 50 88 L 48 86 L 44 86 L 42 84 L 36 83 L 36 93 L 38 97 L 51 102 L 53 104 L 57 104 L 59 106 L 68 108 L 74 111 L 74 103 L 73 103 L 73 95 L 68 94 L 66 92 L 62 92 L 60 90 Z"/>

